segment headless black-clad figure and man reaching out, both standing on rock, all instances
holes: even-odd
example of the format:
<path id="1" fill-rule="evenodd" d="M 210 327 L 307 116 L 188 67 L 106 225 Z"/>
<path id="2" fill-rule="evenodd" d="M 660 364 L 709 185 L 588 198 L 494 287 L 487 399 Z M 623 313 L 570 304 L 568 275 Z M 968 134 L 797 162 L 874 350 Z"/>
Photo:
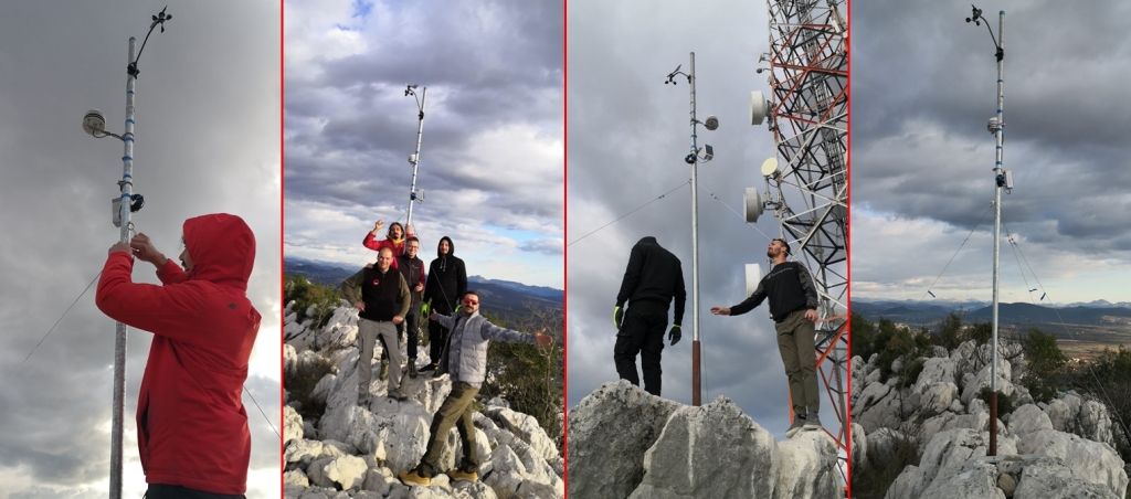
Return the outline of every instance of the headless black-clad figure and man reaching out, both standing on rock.
<path id="1" fill-rule="evenodd" d="M 788 261 L 789 244 L 785 240 L 770 241 L 766 256 L 772 260 L 774 267 L 758 283 L 758 289 L 742 303 L 711 307 L 710 311 L 716 316 L 739 316 L 769 298 L 770 318 L 774 319 L 778 351 L 789 379 L 789 397 L 795 414 L 793 424 L 785 433 L 789 438 L 803 429 L 821 428 L 817 359 L 813 354 L 818 296 L 809 269 L 800 261 Z M 680 259 L 661 247 L 656 238 L 640 239 L 632 247 L 613 309 L 613 326 L 618 329 L 613 360 L 621 379 L 640 385 L 636 367 L 636 358 L 640 355 L 645 390 L 659 395 L 663 372 L 659 361 L 664 351 L 667 309 L 674 299 L 675 320 L 668 341 L 675 345 L 682 336 L 680 322 L 683 321 L 687 295 Z M 628 310 L 624 309 L 625 302 Z"/>

